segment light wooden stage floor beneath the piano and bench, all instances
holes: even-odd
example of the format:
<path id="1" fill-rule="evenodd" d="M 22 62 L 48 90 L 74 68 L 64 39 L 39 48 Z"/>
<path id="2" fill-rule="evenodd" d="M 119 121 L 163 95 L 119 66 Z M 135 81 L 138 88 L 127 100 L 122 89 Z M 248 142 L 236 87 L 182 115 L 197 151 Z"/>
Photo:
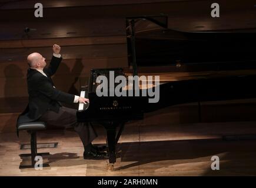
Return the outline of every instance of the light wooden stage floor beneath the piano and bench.
<path id="1" fill-rule="evenodd" d="M 255 176 L 256 140 L 222 140 L 222 135 L 256 134 L 256 122 L 194 123 L 184 125 L 127 126 L 119 140 L 115 170 L 107 172 L 107 160 L 85 160 L 82 143 L 73 130 L 48 130 L 38 143 L 58 142 L 43 170 L 19 169 L 21 143 L 28 134 L 0 133 L 0 176 Z M 102 127 L 96 126 L 105 142 Z M 220 157 L 220 170 L 211 170 L 211 157 Z"/>

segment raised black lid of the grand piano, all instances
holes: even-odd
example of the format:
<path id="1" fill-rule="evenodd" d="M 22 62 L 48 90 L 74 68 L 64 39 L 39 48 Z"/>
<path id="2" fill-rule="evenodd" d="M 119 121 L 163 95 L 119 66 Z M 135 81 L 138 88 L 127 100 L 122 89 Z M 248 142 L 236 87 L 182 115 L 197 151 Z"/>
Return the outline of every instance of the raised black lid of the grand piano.
<path id="1" fill-rule="evenodd" d="M 181 32 L 167 23 L 164 15 L 127 18 L 128 66 L 256 64 L 255 32 Z"/>

